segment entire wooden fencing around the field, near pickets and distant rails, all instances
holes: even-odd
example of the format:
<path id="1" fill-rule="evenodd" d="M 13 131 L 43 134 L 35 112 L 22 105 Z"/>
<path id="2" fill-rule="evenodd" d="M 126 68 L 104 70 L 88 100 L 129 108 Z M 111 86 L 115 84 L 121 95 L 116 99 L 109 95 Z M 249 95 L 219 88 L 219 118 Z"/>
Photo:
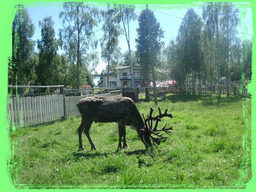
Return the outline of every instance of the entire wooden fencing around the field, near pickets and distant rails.
<path id="1" fill-rule="evenodd" d="M 185 87 L 157 87 L 157 93 L 184 94 L 192 93 L 192 86 Z M 63 90 L 61 95 L 48 95 L 36 97 L 12 97 L 7 99 L 7 119 L 10 123 L 10 130 L 15 128 L 34 126 L 50 121 L 55 121 L 65 117 L 79 115 L 76 102 L 85 97 L 122 97 L 122 94 L 132 93 L 152 94 L 153 87 L 129 87 L 110 89 L 79 89 Z M 221 93 L 251 97 L 244 85 L 240 86 L 221 86 Z M 199 93 L 218 93 L 218 86 L 195 86 L 195 94 Z M 65 103 L 64 103 L 65 102 Z M 65 110 L 64 110 L 65 109 Z M 65 112 L 65 113 L 64 113 Z"/>

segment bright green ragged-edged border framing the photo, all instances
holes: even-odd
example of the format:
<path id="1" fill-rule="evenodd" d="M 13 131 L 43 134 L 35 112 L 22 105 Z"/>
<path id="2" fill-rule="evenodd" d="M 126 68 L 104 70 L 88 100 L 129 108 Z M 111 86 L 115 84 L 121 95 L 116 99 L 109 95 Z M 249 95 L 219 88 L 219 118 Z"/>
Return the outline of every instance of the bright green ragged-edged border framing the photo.
<path id="1" fill-rule="evenodd" d="M 0 42 L 0 61 L 1 61 L 1 70 L 0 70 L 0 83 L 1 83 L 1 94 L 0 94 L 0 101 L 1 101 L 1 115 L 0 115 L 0 122 L 1 122 L 1 129 L 0 129 L 0 134 L 1 134 L 1 156 L 0 156 L 0 161 L 1 161 L 1 166 L 0 166 L 0 173 L 1 173 L 1 188 L 3 191 L 17 191 L 17 190 L 31 190 L 31 189 L 16 189 L 14 185 L 11 183 L 11 179 L 7 170 L 7 159 L 10 158 L 11 154 L 11 148 L 10 148 L 10 139 L 9 139 L 9 128 L 7 125 L 7 120 L 6 120 L 6 114 L 7 114 L 7 82 L 8 82 L 8 57 L 11 56 L 12 53 L 12 37 L 11 37 L 11 29 L 12 29 L 12 21 L 14 19 L 14 14 L 15 14 L 15 5 L 16 4 L 25 4 L 25 7 L 30 7 L 30 6 L 37 6 L 37 3 L 42 3 L 47 4 L 50 2 L 64 2 L 67 0 L 6 0 L 1 2 L 1 11 L 0 11 L 0 18 L 1 18 L 1 29 L 0 29 L 0 34 L 1 34 L 1 42 Z M 79 1 L 79 0 L 72 0 L 72 1 Z M 84 0 L 80 0 L 84 1 Z M 220 1 L 220 0 L 217 0 Z M 86 1 L 85 1 L 86 2 Z M 187 5 L 191 5 L 193 3 L 197 2 L 210 2 L 209 0 L 87 0 L 87 2 L 96 2 L 96 3 L 119 3 L 119 4 L 185 4 L 186 7 Z M 226 2 L 226 1 L 225 1 Z M 252 20 L 256 21 L 256 1 L 255 0 L 231 0 L 230 2 L 249 2 L 251 9 L 252 9 Z M 243 5 L 241 5 L 243 6 Z M 252 44 L 254 45 L 256 43 L 255 40 L 255 22 L 253 22 L 253 42 Z M 243 31 L 246 32 L 246 31 Z M 255 74 L 256 74 L 256 68 L 255 68 L 255 63 L 256 63 L 256 46 L 252 47 L 252 79 L 255 79 Z M 248 84 L 248 92 L 252 94 L 252 117 L 256 117 L 256 99 L 254 98 L 254 93 L 256 93 L 256 83 L 251 82 Z M 252 124 L 251 128 L 255 127 L 256 125 L 256 119 L 252 118 Z M 252 138 L 256 137 L 256 131 L 254 129 L 251 129 L 252 131 Z M 255 140 L 252 139 L 252 178 L 251 180 L 246 184 L 245 189 L 218 189 L 218 191 L 254 191 L 254 183 L 256 182 L 256 177 L 255 177 Z M 40 189 L 41 191 L 49 191 L 53 189 Z M 63 191 L 63 189 L 54 189 L 54 191 Z M 71 190 L 78 190 L 78 189 L 71 189 Z M 98 191 L 98 190 L 103 190 L 103 191 L 110 191 L 110 190 L 120 190 L 120 189 L 89 189 L 90 191 Z M 141 189 L 123 189 L 126 191 L 131 191 L 131 190 L 141 190 Z M 151 191 L 151 190 L 157 190 L 157 191 L 162 191 L 162 190 L 174 190 L 174 189 L 143 189 L 143 191 Z M 187 191 L 191 189 L 178 189 L 179 191 Z M 209 190 L 214 190 L 214 189 L 197 189 L 200 191 L 209 191 Z"/>

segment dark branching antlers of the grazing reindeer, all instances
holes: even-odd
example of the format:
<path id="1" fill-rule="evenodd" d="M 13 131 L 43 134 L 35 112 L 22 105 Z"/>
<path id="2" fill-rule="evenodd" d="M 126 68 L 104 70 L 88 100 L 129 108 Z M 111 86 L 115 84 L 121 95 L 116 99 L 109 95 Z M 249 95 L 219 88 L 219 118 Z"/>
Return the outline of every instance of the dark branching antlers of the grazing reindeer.
<path id="1" fill-rule="evenodd" d="M 170 132 L 169 130 L 173 130 L 172 127 L 170 128 L 165 128 L 167 124 L 165 124 L 164 127 L 162 127 L 161 129 L 157 129 L 157 126 L 158 126 L 158 122 L 161 121 L 161 118 L 163 117 L 170 117 L 170 118 L 173 118 L 172 114 L 168 114 L 167 113 L 167 110 L 165 110 L 165 112 L 162 114 L 161 113 L 161 109 L 160 107 L 158 107 L 158 110 L 159 110 L 159 115 L 155 116 L 155 117 L 152 117 L 152 114 L 153 114 L 153 111 L 154 109 L 153 108 L 150 108 L 150 113 L 149 113 L 149 116 L 148 118 L 145 119 L 144 117 L 144 114 L 142 114 L 143 118 L 144 118 L 144 123 L 145 123 L 145 126 L 147 128 L 147 131 L 150 133 L 150 137 L 153 139 L 154 142 L 156 143 L 159 143 L 159 140 L 160 139 L 167 139 L 167 137 L 163 136 L 163 133 L 162 134 L 159 134 L 158 131 L 164 131 L 166 132 L 168 135 L 172 135 L 172 132 Z M 153 125 L 153 120 L 156 121 L 155 123 L 155 126 L 154 128 L 152 129 L 152 125 Z M 159 138 L 154 138 L 151 134 L 154 134 L 154 135 L 157 135 Z"/>

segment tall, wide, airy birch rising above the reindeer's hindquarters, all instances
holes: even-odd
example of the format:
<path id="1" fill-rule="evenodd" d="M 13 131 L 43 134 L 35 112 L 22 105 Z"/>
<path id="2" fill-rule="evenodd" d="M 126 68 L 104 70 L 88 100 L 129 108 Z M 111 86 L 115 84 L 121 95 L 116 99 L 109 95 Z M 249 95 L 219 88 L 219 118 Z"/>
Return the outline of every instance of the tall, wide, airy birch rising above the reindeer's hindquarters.
<path id="1" fill-rule="evenodd" d="M 69 68 L 70 83 L 76 89 L 84 84 L 93 85 L 90 74 L 98 64 L 95 51 L 98 41 L 92 32 L 100 22 L 99 10 L 83 2 L 66 2 L 63 9 L 59 14 L 63 23 L 63 29 L 59 30 L 59 45 L 65 50 L 72 65 Z M 93 67 L 89 69 L 89 65 Z"/>

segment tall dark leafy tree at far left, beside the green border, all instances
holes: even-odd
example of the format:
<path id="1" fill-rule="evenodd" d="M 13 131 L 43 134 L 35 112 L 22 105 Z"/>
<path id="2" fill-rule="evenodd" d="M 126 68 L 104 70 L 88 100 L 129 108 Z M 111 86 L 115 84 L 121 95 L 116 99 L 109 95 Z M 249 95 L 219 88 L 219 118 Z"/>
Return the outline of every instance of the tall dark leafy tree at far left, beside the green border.
<path id="1" fill-rule="evenodd" d="M 16 9 L 12 22 L 12 57 L 8 63 L 8 84 L 33 84 L 37 66 L 35 42 L 32 40 L 35 27 L 23 5 L 16 5 Z"/>

